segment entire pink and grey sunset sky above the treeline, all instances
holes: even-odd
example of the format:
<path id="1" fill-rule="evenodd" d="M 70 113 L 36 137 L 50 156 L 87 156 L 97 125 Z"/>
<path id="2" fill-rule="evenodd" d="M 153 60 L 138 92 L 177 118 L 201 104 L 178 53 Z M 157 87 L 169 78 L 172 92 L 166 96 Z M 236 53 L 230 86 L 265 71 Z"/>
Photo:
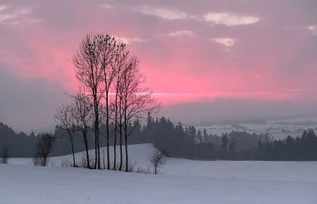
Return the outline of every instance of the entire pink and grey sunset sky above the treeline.
<path id="1" fill-rule="evenodd" d="M 316 10 L 316 0 L 1 0 L 0 121 L 54 124 L 89 32 L 128 45 L 172 120 L 317 113 Z"/>

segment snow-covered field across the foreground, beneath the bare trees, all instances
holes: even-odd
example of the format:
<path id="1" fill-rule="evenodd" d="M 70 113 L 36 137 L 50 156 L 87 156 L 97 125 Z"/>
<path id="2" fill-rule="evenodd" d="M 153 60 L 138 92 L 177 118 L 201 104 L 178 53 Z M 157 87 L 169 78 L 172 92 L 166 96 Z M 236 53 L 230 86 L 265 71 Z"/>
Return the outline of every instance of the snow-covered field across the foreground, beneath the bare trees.
<path id="1" fill-rule="evenodd" d="M 130 145 L 147 168 L 151 144 Z M 81 153 L 76 156 L 78 159 Z M 0 164 L 0 203 L 317 203 L 317 162 L 230 162 L 168 159 L 161 174 L 33 167 L 32 159 Z"/>

